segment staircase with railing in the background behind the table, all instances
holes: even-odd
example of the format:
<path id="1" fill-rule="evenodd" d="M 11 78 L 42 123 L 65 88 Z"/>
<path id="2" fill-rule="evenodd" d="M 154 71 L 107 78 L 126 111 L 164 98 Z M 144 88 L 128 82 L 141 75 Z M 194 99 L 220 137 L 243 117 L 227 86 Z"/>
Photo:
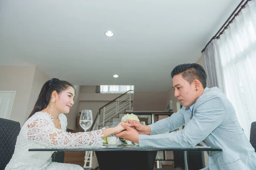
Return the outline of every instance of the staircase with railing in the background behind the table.
<path id="1" fill-rule="evenodd" d="M 99 108 L 93 125 L 90 130 L 98 130 L 104 126 L 116 126 L 124 116 L 125 111 L 132 111 L 133 90 L 129 90 L 124 94 L 108 102 Z M 92 167 L 93 151 L 86 151 L 84 156 L 84 166 Z"/>

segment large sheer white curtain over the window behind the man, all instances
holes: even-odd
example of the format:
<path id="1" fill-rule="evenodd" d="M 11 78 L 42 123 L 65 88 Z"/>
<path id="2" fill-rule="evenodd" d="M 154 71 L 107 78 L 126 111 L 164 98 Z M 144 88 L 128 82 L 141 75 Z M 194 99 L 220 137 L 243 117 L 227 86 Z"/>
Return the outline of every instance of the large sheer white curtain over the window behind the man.
<path id="1" fill-rule="evenodd" d="M 224 83 L 225 94 L 249 138 L 250 125 L 256 121 L 256 0 L 247 3 L 214 43 L 224 78 L 218 77 L 218 84 Z"/>

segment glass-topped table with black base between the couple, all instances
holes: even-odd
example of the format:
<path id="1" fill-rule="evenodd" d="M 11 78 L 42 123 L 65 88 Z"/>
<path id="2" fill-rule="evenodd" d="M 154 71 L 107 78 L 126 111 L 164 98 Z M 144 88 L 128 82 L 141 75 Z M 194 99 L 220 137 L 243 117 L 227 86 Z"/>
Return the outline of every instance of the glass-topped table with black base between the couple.
<path id="1" fill-rule="evenodd" d="M 106 144 L 105 147 L 31 148 L 29 151 L 95 151 L 100 170 L 153 170 L 157 151 L 216 151 L 219 147 L 140 147 L 131 144 Z"/>

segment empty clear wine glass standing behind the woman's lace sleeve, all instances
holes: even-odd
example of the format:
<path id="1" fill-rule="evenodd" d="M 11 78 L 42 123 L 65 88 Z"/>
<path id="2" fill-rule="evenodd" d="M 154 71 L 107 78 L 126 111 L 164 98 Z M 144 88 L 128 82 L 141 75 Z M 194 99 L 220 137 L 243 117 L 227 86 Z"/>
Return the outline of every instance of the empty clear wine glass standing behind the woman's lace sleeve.
<path id="1" fill-rule="evenodd" d="M 93 112 L 91 110 L 82 110 L 79 124 L 86 132 L 93 125 Z"/>

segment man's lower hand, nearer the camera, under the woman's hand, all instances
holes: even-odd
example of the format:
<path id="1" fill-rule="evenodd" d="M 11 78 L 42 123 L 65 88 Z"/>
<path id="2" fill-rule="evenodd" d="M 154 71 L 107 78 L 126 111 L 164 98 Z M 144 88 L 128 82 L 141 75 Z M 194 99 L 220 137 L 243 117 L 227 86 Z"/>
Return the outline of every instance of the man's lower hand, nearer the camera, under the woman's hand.
<path id="1" fill-rule="evenodd" d="M 139 133 L 134 128 L 129 127 L 127 124 L 121 124 L 126 130 L 116 133 L 116 137 L 120 137 L 131 142 L 139 143 Z"/>

